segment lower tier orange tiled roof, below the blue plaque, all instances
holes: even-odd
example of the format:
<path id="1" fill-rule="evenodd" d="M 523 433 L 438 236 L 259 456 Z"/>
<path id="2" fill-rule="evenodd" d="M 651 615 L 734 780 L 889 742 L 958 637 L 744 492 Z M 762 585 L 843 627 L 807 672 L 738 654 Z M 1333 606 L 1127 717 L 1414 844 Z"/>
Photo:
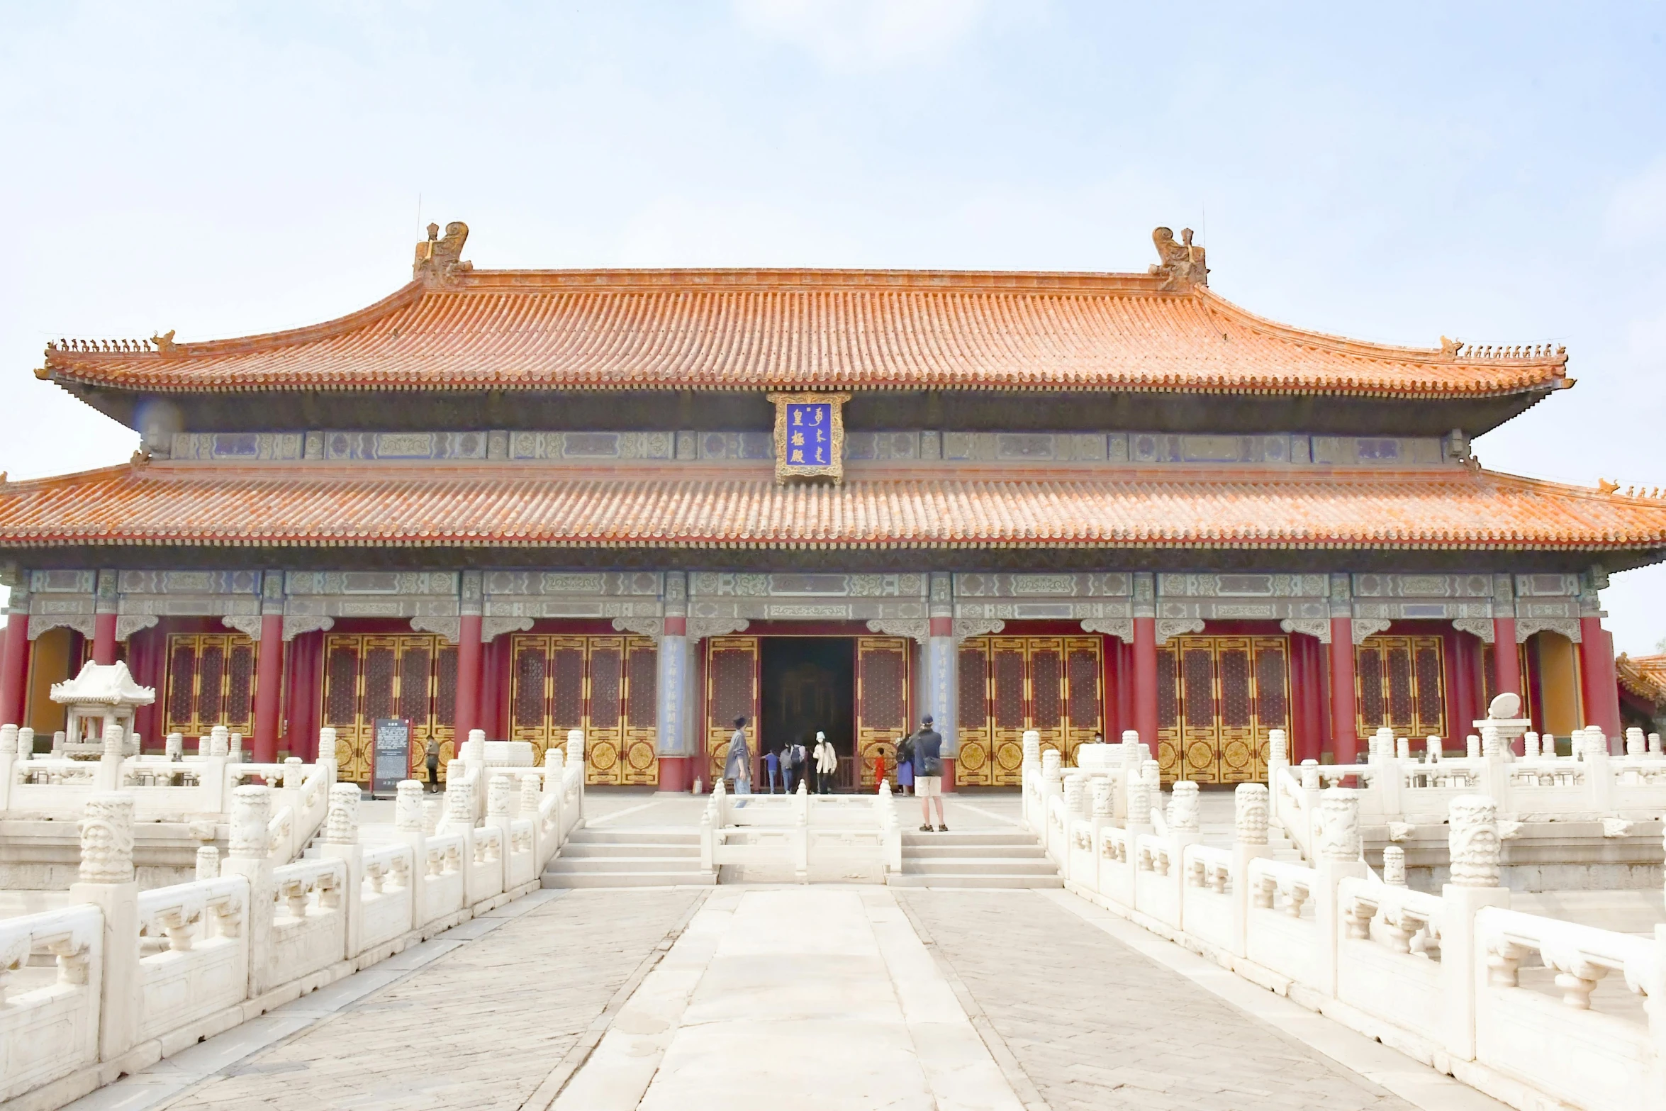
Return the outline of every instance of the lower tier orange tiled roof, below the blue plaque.
<path id="1" fill-rule="evenodd" d="M 1459 468 L 150 463 L 0 486 L 0 545 L 1658 550 L 1666 501 Z"/>

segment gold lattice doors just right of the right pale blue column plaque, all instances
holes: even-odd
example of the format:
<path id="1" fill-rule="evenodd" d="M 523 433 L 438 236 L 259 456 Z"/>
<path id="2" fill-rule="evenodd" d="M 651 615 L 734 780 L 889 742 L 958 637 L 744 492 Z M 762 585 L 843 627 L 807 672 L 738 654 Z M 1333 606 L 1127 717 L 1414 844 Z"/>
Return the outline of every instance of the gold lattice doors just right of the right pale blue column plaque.
<path id="1" fill-rule="evenodd" d="M 1086 636 L 976 636 L 960 650 L 960 756 L 955 781 L 1020 781 L 1023 736 L 1066 763 L 1105 728 L 1100 640 Z"/>

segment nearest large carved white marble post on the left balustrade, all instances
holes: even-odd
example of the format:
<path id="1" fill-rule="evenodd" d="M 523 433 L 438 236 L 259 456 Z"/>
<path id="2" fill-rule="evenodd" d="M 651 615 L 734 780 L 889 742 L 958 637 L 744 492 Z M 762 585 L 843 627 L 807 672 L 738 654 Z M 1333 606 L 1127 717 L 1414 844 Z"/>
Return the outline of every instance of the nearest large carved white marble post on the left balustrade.
<path id="1" fill-rule="evenodd" d="M 120 726 L 115 728 L 120 746 Z M 70 884 L 70 903 L 93 903 L 103 916 L 98 1056 L 112 1061 L 133 1048 L 140 1019 L 133 796 L 95 793 L 82 811 L 80 834 L 82 868 L 78 879 Z"/>

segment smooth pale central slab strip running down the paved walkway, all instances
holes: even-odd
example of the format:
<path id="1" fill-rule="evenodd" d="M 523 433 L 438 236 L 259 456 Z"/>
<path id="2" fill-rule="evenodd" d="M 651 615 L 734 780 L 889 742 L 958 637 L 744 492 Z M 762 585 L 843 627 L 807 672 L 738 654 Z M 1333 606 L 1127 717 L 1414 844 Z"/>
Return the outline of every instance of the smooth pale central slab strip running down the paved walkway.
<path id="1" fill-rule="evenodd" d="M 886 888 L 716 891 L 558 1111 L 1021 1111 Z"/>

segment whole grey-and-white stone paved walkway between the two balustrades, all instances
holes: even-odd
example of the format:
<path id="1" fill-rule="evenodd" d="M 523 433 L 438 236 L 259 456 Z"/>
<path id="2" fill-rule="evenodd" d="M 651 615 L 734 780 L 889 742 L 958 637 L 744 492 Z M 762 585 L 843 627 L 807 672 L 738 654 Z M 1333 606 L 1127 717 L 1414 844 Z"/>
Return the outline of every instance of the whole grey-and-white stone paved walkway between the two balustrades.
<path id="1" fill-rule="evenodd" d="M 590 821 L 691 801 L 601 796 Z M 72 1106 L 1501 1104 L 1063 891 L 826 884 L 538 891 Z"/>

